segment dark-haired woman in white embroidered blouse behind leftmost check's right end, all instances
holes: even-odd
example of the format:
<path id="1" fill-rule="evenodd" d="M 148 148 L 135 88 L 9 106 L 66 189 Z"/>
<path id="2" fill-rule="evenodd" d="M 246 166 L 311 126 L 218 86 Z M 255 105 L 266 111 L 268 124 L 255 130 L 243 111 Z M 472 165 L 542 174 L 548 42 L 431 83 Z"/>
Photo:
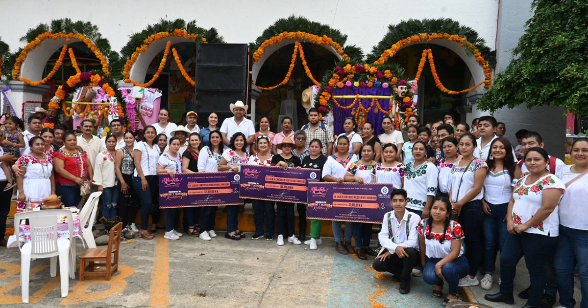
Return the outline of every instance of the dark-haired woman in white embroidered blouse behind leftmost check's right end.
<path id="1" fill-rule="evenodd" d="M 233 171 L 238 173 L 240 165 L 247 164 L 249 152 L 247 148 L 247 138 L 243 133 L 235 133 L 230 137 L 229 148 L 226 149 L 220 158 L 219 171 Z M 238 216 L 239 205 L 226 205 L 226 233 L 225 238 L 239 241 L 245 238 L 245 233 L 239 231 Z"/>

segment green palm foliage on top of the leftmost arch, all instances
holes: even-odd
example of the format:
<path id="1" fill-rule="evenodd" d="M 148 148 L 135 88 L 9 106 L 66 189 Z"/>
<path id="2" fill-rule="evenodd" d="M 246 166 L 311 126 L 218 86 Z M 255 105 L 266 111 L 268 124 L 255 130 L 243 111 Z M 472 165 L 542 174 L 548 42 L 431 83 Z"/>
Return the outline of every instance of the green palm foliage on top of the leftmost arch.
<path id="1" fill-rule="evenodd" d="M 102 55 L 106 57 L 109 64 L 109 70 L 113 77 L 122 77 L 122 65 L 119 65 L 120 56 L 117 52 L 111 49 L 108 39 L 102 37 L 102 34 L 98 31 L 98 26 L 92 25 L 91 22 L 76 21 L 73 22 L 69 18 L 53 19 L 49 25 L 46 23 L 39 23 L 35 28 L 29 29 L 24 36 L 21 37 L 21 41 L 30 43 L 37 36 L 45 32 L 52 33 L 80 33 L 87 36 L 96 47 L 102 52 Z M 22 48 L 19 48 L 15 53 L 11 53 L 9 56 L 3 59 L 4 65 L 4 76 L 8 80 L 12 80 L 12 69 L 14 69 L 14 63 L 16 57 L 22 52 Z"/>

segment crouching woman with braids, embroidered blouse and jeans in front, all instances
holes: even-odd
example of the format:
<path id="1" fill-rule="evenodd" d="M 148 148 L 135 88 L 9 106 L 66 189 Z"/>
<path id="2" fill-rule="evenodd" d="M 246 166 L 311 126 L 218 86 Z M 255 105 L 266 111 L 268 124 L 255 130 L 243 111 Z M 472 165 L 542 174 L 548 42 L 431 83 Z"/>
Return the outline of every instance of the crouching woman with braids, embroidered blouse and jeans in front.
<path id="1" fill-rule="evenodd" d="M 449 199 L 437 197 L 433 201 L 430 217 L 417 225 L 419 232 L 420 263 L 423 280 L 433 285 L 433 296 L 443 295 L 443 280 L 449 283 L 449 295 L 443 300 L 457 299 L 457 284 L 470 270 L 463 255 L 462 241 L 465 238 L 462 226 L 449 219 L 452 208 Z"/>

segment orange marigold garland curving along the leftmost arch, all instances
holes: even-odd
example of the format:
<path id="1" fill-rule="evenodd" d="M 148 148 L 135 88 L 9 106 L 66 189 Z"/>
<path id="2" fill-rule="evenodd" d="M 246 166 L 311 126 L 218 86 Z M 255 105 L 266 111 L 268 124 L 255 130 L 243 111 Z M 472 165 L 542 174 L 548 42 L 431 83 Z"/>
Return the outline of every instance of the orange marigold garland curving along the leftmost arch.
<path id="1" fill-rule="evenodd" d="M 14 69 L 12 70 L 12 78 L 14 78 L 14 80 L 20 80 L 22 82 L 25 82 L 25 83 L 31 84 L 31 85 L 38 85 L 38 84 L 33 84 L 33 83 L 42 82 L 42 80 L 39 80 L 39 82 L 31 82 L 31 80 L 28 80 L 26 78 L 20 79 L 19 76 L 21 75 L 22 62 L 24 62 L 28 53 L 31 52 L 31 50 L 35 49 L 37 46 L 39 46 L 41 44 L 41 42 L 43 42 L 45 39 L 66 39 L 68 42 L 71 41 L 72 39 L 81 40 L 83 43 L 86 44 L 86 46 L 88 46 L 88 48 L 90 50 L 92 50 L 92 52 L 98 58 L 98 60 L 100 60 L 100 63 L 102 65 L 102 71 L 106 74 L 106 76 L 110 75 L 110 71 L 108 70 L 109 69 L 108 60 L 106 60 L 106 57 L 104 55 L 102 55 L 102 52 L 100 51 L 100 49 L 98 49 L 98 47 L 96 47 L 96 45 L 94 45 L 92 40 L 90 40 L 87 36 L 85 36 L 81 33 L 45 32 L 45 33 L 41 33 L 34 40 L 32 40 L 30 43 L 28 43 L 22 49 L 21 54 L 18 57 L 16 57 L 16 61 L 14 63 Z M 62 52 L 63 52 L 63 50 L 62 50 Z M 58 66 L 58 68 L 59 68 L 59 66 Z M 55 67 L 54 67 L 54 69 L 55 69 Z M 47 80 L 49 80 L 49 79 L 47 79 Z M 42 83 L 39 83 L 39 84 L 42 84 Z"/>

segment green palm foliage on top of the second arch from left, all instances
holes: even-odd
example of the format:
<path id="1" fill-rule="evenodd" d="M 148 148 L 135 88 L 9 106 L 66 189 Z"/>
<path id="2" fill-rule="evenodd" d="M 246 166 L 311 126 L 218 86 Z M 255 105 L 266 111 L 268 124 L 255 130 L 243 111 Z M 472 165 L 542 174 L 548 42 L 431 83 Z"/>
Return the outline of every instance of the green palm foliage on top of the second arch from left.
<path id="1" fill-rule="evenodd" d="M 209 43 L 225 43 L 225 39 L 219 35 L 215 28 L 205 29 L 196 26 L 196 21 L 186 22 L 183 19 L 175 19 L 174 21 L 168 21 L 161 19 L 158 23 L 148 25 L 139 33 L 133 33 L 129 42 L 121 49 L 121 55 L 123 60 L 128 60 L 135 49 L 143 45 L 143 40 L 158 32 L 173 32 L 175 29 L 182 29 L 188 33 L 196 33 L 206 38 L 206 42 Z M 200 42 L 200 41 L 198 41 Z"/>

